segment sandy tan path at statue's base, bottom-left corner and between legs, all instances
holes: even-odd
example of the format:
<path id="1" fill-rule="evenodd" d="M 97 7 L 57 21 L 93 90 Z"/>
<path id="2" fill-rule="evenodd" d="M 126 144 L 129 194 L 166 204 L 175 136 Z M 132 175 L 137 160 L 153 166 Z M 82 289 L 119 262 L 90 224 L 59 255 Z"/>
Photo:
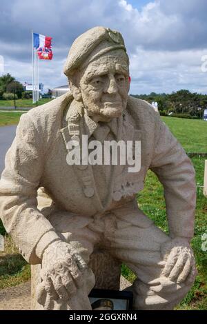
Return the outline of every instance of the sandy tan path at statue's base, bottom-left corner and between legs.
<path id="1" fill-rule="evenodd" d="M 121 276 L 120 288 L 124 290 L 130 283 Z M 0 310 L 30 310 L 30 281 L 15 287 L 0 290 Z"/>

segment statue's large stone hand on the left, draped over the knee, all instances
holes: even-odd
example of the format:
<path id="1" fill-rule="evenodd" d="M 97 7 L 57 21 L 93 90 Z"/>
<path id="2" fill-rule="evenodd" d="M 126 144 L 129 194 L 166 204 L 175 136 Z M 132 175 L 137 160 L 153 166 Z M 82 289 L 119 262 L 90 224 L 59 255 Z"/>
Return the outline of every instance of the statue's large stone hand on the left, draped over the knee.
<path id="1" fill-rule="evenodd" d="M 83 285 L 83 270 L 87 267 L 81 256 L 63 241 L 55 241 L 43 252 L 41 264 L 41 298 L 39 303 L 45 306 L 43 290 L 50 301 L 61 298 L 67 300 Z M 48 302 L 47 302 L 48 303 Z M 49 305 L 48 305 L 49 307 Z M 46 308 L 48 308 L 46 307 Z"/>

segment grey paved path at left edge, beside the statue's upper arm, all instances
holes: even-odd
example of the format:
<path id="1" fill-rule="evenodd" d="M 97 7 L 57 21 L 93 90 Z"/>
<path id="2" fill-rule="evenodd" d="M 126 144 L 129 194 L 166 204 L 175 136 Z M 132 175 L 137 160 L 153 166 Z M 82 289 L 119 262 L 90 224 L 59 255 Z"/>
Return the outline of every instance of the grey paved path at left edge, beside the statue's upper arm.
<path id="1" fill-rule="evenodd" d="M 17 125 L 0 127 L 0 175 L 4 169 L 5 154 L 10 148 L 15 136 Z"/>

